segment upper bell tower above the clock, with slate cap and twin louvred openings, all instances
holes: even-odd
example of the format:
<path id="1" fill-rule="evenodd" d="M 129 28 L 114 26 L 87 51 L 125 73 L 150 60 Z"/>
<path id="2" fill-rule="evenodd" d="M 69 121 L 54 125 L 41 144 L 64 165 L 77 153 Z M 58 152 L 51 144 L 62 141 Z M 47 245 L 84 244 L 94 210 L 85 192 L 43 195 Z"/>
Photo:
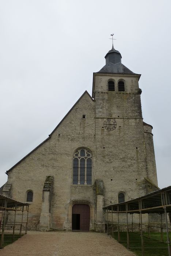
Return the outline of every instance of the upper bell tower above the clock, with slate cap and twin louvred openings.
<path id="1" fill-rule="evenodd" d="M 105 59 L 106 65 L 93 74 L 96 117 L 142 118 L 138 86 L 141 75 L 122 64 L 121 53 L 113 46 Z"/>

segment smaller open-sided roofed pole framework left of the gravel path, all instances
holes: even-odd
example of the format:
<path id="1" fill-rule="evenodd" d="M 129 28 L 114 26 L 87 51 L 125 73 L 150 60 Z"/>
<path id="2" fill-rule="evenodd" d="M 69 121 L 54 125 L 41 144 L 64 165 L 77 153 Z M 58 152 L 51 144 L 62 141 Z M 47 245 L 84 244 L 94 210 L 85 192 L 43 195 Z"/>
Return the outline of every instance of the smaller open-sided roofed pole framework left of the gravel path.
<path id="1" fill-rule="evenodd" d="M 0 249 L 4 247 L 5 234 L 12 234 L 13 242 L 15 234 L 21 236 L 27 233 L 28 207 L 29 204 L 27 203 L 21 203 L 10 197 L 0 195 Z M 11 221 L 8 221 L 9 212 L 14 212 L 13 215 L 10 215 Z M 20 221 L 16 221 L 16 218 L 18 219 L 19 217 Z M 26 221 L 23 221 L 24 217 Z"/>

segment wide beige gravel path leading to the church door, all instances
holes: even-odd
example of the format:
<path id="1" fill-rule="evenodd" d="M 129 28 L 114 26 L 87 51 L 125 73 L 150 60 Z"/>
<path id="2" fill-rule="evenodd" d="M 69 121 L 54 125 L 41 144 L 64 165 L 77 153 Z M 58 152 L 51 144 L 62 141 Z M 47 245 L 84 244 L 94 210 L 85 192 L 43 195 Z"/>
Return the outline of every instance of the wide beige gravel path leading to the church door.
<path id="1" fill-rule="evenodd" d="M 95 232 L 28 231 L 13 244 L 0 250 L 0 256 L 134 256 L 110 236 Z"/>

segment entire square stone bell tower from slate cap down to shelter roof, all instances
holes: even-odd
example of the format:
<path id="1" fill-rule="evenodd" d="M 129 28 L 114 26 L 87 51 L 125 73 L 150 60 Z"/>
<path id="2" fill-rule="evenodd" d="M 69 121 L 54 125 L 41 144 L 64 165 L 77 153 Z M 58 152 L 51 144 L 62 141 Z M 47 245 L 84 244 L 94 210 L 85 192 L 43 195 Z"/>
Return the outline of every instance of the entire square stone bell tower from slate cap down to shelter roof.
<path id="1" fill-rule="evenodd" d="M 158 187 L 152 126 L 142 118 L 141 75 L 122 64 L 121 53 L 113 46 L 105 59 L 104 67 L 93 74 L 92 97 L 97 155 L 101 157 L 96 178 L 103 180 L 104 204 L 110 205 L 119 193 L 129 200 Z"/>

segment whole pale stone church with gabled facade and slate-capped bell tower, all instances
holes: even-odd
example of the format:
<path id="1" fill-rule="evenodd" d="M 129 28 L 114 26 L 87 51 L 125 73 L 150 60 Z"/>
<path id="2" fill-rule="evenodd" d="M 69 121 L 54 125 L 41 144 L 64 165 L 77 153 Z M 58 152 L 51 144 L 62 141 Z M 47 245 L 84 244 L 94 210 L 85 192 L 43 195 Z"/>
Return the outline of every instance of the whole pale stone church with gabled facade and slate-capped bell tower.
<path id="1" fill-rule="evenodd" d="M 6 174 L 0 193 L 30 203 L 30 229 L 103 230 L 103 207 L 156 190 L 140 74 L 114 49 L 49 137 Z"/>

